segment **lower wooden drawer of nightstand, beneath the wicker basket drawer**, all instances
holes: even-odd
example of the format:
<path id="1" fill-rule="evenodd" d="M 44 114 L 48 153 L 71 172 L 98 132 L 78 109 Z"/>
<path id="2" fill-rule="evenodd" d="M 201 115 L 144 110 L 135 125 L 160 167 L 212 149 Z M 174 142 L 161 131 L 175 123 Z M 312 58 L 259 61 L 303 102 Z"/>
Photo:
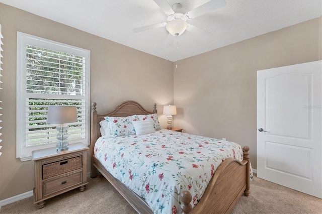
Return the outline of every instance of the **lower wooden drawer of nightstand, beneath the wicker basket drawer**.
<path id="1" fill-rule="evenodd" d="M 63 177 L 43 182 L 43 196 L 66 189 L 83 182 L 83 171 L 78 171 Z"/>

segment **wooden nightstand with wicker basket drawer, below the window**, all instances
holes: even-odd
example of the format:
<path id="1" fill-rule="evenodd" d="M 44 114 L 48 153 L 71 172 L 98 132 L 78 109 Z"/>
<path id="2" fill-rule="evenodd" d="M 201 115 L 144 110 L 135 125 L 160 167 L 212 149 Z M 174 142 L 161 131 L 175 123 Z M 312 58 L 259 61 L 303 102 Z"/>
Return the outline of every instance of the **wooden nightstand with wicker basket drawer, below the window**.
<path id="1" fill-rule="evenodd" d="M 32 152 L 35 161 L 34 203 L 39 208 L 45 200 L 79 187 L 82 192 L 87 182 L 87 150 L 83 143 L 69 144 L 68 150 L 56 148 Z"/>

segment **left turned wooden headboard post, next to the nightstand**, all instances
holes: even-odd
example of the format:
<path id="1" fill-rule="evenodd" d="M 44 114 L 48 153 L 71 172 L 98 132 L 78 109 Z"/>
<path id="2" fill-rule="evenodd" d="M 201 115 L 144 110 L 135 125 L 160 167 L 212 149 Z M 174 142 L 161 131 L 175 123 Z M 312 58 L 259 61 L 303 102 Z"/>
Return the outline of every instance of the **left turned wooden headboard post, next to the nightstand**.
<path id="1" fill-rule="evenodd" d="M 91 112 L 91 177 L 95 178 L 97 176 L 96 168 L 93 165 L 93 155 L 94 155 L 94 144 L 97 139 L 97 112 L 96 112 L 96 102 L 92 103 L 92 112 Z"/>

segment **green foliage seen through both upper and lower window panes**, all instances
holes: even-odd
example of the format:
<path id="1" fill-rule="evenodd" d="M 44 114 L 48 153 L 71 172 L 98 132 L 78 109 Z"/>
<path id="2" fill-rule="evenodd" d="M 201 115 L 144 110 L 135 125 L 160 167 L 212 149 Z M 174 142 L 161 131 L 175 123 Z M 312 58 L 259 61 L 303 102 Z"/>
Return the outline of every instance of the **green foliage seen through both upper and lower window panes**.
<path id="1" fill-rule="evenodd" d="M 84 85 L 83 57 L 29 45 L 27 45 L 26 51 L 27 93 L 82 95 Z M 28 121 L 29 132 L 31 132 L 29 136 L 57 133 L 55 127 L 48 127 L 46 123 L 48 105 L 56 104 L 78 105 L 77 115 L 81 115 L 82 100 L 29 98 Z M 79 120 L 82 120 L 82 117 L 78 117 Z M 73 129 L 73 131 L 79 131 L 82 124 L 70 127 L 79 127 L 78 130 Z M 40 130 L 44 130 L 44 132 L 37 132 Z M 41 139 L 30 139 L 30 141 Z"/>

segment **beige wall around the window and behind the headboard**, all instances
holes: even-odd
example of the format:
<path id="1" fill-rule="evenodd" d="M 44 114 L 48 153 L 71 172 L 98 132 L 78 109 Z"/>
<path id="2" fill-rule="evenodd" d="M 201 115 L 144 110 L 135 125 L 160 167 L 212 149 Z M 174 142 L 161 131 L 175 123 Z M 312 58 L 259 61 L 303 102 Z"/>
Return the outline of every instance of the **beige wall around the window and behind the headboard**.
<path id="1" fill-rule="evenodd" d="M 0 3 L 4 35 L 4 69 L 0 99 L 3 100 L 2 156 L 0 156 L 0 200 L 31 191 L 33 161 L 16 158 L 16 43 L 17 31 L 91 50 L 91 101 L 97 111 L 112 110 L 131 99 L 152 111 L 153 103 L 173 103 L 173 62 L 106 39 L 55 23 Z M 162 125 L 166 117 L 160 115 Z M 89 168 L 90 169 L 90 168 Z"/>

